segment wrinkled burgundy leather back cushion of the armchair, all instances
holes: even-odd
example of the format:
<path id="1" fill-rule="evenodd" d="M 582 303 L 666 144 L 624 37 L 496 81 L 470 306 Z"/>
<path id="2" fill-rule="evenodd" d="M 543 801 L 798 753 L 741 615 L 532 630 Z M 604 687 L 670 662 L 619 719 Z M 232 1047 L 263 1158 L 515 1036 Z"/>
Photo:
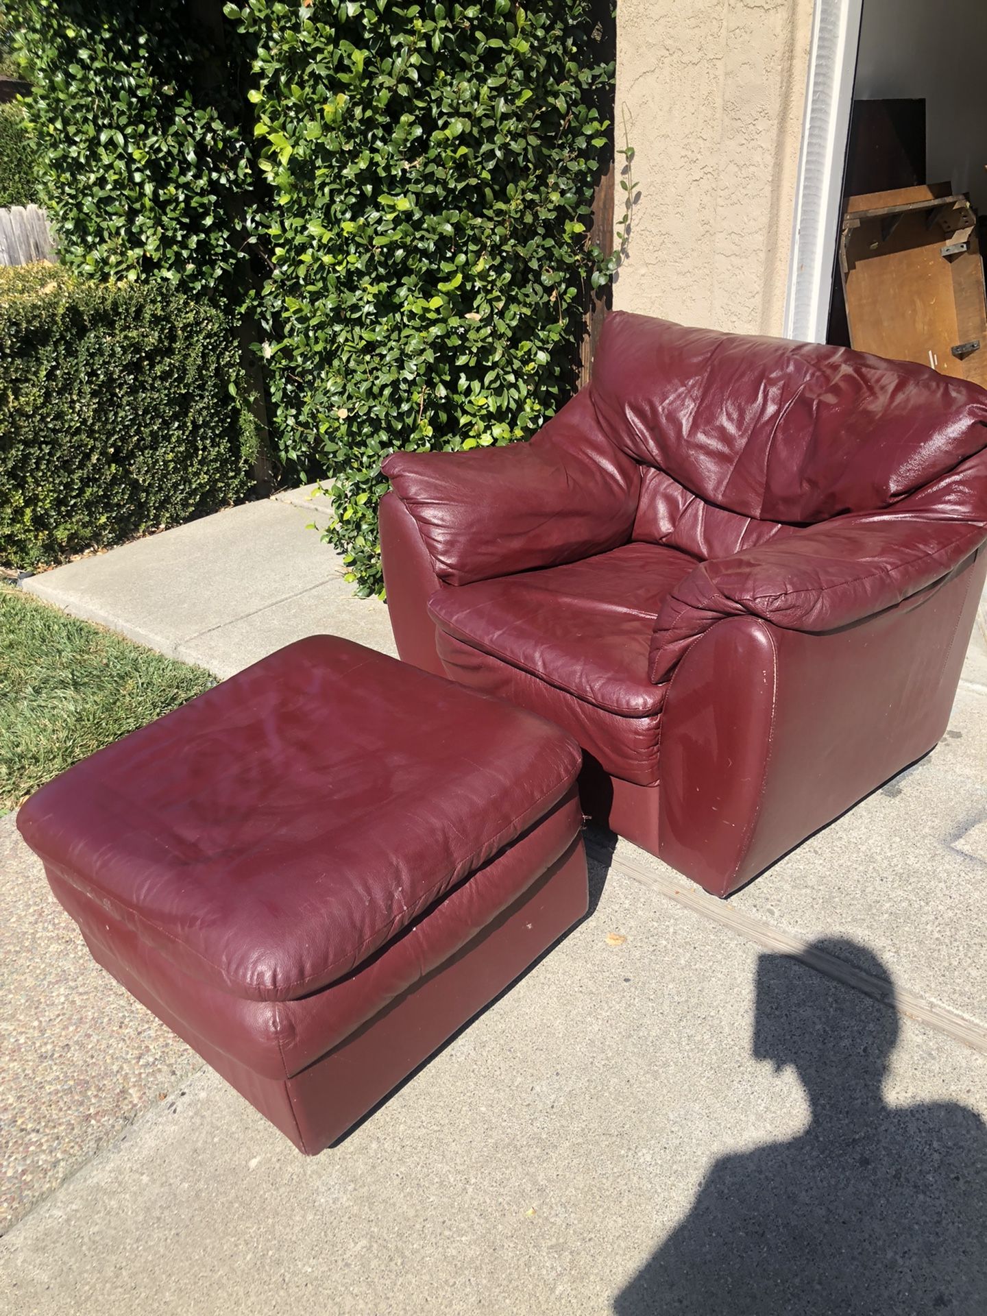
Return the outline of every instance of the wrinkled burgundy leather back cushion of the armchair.
<path id="1" fill-rule="evenodd" d="M 591 395 L 611 442 L 669 478 L 645 480 L 634 538 L 699 557 L 754 544 L 762 530 L 737 517 L 807 525 L 878 511 L 987 446 L 987 392 L 966 380 L 628 312 L 607 318 Z M 690 542 L 654 536 L 678 496 L 670 482 L 709 505 Z"/>

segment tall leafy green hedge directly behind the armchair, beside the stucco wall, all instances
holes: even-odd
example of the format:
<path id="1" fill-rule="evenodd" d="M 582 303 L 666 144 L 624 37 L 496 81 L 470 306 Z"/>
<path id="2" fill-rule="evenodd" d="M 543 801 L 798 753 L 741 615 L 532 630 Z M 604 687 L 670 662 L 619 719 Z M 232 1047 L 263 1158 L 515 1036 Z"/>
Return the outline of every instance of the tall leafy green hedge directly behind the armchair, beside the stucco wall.
<path id="1" fill-rule="evenodd" d="M 380 588 L 380 459 L 526 438 L 574 391 L 613 67 L 590 0 L 249 0 L 282 457 Z"/>

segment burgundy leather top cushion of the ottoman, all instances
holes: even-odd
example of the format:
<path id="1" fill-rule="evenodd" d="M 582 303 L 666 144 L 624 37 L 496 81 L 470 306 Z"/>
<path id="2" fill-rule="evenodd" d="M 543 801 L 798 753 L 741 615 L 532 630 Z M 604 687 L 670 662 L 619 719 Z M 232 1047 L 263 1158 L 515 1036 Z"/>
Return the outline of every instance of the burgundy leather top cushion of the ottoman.
<path id="1" fill-rule="evenodd" d="M 286 1000 L 383 946 L 579 766 L 533 713 L 312 636 L 76 763 L 18 826 L 184 971 Z"/>

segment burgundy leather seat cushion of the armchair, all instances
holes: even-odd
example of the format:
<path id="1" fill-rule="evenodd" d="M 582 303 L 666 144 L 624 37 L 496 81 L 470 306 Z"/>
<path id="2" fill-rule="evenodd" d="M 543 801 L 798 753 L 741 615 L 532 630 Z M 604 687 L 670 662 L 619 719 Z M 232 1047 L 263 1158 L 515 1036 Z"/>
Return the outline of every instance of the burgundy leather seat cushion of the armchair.
<path id="1" fill-rule="evenodd" d="M 429 613 L 445 634 L 620 717 L 651 717 L 655 617 L 696 566 L 678 549 L 625 544 L 582 562 L 441 590 Z"/>

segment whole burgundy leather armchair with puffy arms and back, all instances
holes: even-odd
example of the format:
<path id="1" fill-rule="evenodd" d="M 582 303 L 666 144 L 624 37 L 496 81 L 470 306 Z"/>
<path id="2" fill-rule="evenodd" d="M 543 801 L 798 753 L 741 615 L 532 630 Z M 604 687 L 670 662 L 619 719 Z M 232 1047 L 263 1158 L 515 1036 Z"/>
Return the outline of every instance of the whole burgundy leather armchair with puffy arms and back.
<path id="1" fill-rule="evenodd" d="M 987 570 L 987 392 L 615 313 L 530 442 L 395 453 L 401 657 L 542 713 L 587 812 L 724 896 L 942 736 Z"/>

